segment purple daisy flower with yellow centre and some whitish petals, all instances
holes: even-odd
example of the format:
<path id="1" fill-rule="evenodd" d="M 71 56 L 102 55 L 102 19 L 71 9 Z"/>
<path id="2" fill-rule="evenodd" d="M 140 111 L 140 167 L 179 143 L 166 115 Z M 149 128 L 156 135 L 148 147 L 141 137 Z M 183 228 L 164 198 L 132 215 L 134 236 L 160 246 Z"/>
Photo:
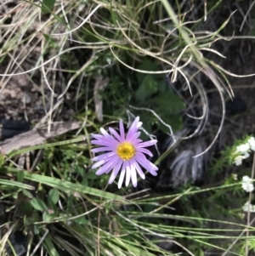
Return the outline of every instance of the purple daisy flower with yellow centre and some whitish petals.
<path id="1" fill-rule="evenodd" d="M 94 140 L 91 144 L 99 145 L 98 148 L 93 149 L 94 153 L 105 152 L 102 155 L 95 156 L 92 160 L 95 162 L 92 168 L 99 168 L 96 172 L 97 175 L 109 174 L 109 184 L 111 184 L 116 175 L 121 170 L 121 175 L 118 181 L 118 188 L 122 187 L 122 183 L 126 174 L 126 186 L 132 180 L 133 186 L 137 186 L 137 173 L 142 179 L 145 179 L 144 172 L 140 168 L 142 166 L 150 174 L 156 176 L 158 168 L 149 160 L 146 159 L 144 154 L 152 156 L 151 152 L 146 150 L 145 147 L 155 145 L 157 140 L 143 142 L 139 138 L 141 134 L 139 128 L 142 122 L 139 122 L 139 117 L 136 117 L 127 131 L 125 136 L 123 122 L 120 122 L 120 134 L 115 129 L 109 128 L 108 134 L 104 128 L 100 128 L 101 134 L 92 134 Z"/>

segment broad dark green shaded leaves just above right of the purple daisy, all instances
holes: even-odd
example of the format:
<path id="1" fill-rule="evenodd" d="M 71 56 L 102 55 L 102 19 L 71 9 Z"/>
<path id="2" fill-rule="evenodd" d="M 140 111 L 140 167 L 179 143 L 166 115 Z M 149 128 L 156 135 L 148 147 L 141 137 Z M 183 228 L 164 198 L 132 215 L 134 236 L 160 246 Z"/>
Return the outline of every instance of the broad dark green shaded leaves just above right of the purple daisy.
<path id="1" fill-rule="evenodd" d="M 158 71 L 159 67 L 155 62 L 144 59 L 138 69 Z M 159 75 L 136 73 L 136 77 L 139 82 L 139 88 L 135 91 L 136 105 L 155 111 L 163 122 L 170 125 L 173 130 L 181 129 L 183 122 L 180 114 L 185 109 L 183 100 L 174 94 L 173 89 L 169 88 Z M 137 112 L 137 115 L 140 112 Z M 147 131 L 150 131 L 151 124 L 156 122 L 161 131 L 169 132 L 169 128 L 156 120 L 155 116 L 148 111 L 141 114 L 141 120 L 145 122 L 144 127 Z"/>

